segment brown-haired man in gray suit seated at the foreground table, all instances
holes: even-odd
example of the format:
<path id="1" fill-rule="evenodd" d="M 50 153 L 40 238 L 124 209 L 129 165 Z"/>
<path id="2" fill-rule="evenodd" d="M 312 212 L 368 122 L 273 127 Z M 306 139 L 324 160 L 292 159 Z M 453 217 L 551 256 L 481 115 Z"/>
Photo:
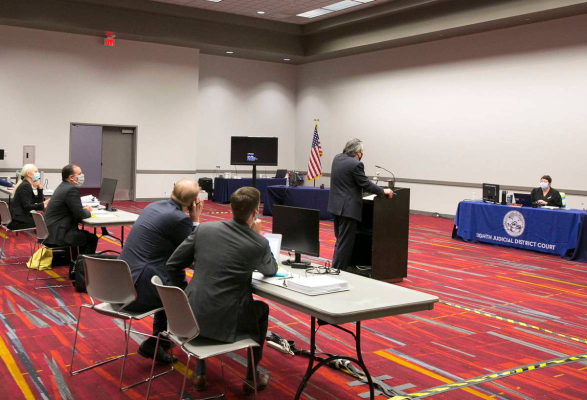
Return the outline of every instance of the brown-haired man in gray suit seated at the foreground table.
<path id="1" fill-rule="evenodd" d="M 167 273 L 173 285 L 185 288 L 200 336 L 234 343 L 251 338 L 259 343 L 254 349 L 255 365 L 249 355 L 247 380 L 252 385 L 257 374 L 257 390 L 269 386 L 269 375 L 258 374 L 263 343 L 269 321 L 269 307 L 253 300 L 251 277 L 254 270 L 271 276 L 277 263 L 269 242 L 261 233 L 259 191 L 241 187 L 230 197 L 232 220 L 202 224 L 185 239 L 167 261 Z M 194 277 L 187 284 L 184 268 L 194 263 Z M 186 288 L 187 285 L 187 288 Z M 194 388 L 205 388 L 204 362 L 198 361 Z M 243 384 L 245 394 L 253 389 Z"/>

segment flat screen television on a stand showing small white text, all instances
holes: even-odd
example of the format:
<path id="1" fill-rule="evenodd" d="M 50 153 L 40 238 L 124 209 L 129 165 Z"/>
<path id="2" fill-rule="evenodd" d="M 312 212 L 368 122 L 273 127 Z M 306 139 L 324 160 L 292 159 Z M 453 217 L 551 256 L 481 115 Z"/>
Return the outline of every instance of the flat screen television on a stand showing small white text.
<path id="1" fill-rule="evenodd" d="M 277 165 L 277 137 L 232 136 L 231 165 Z"/>

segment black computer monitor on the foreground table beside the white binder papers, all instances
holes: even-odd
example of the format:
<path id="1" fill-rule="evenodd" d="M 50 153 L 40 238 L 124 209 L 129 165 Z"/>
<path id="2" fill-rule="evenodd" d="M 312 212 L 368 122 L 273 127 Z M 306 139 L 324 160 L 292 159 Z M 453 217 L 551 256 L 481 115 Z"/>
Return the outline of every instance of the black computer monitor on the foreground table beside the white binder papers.
<path id="1" fill-rule="evenodd" d="M 295 260 L 284 261 L 292 268 L 308 268 L 301 254 L 320 256 L 320 211 L 300 207 L 273 206 L 273 233 L 281 233 L 281 250 L 293 251 Z"/>

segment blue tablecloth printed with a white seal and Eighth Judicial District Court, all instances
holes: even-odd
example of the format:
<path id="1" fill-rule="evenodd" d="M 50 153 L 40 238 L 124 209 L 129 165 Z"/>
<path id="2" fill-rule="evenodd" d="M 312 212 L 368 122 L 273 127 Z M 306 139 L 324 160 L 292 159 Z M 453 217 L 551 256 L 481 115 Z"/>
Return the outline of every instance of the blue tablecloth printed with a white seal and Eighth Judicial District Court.
<path id="1" fill-rule="evenodd" d="M 454 238 L 483 241 L 559 254 L 587 246 L 578 241 L 583 210 L 549 210 L 461 201 L 454 217 Z"/>

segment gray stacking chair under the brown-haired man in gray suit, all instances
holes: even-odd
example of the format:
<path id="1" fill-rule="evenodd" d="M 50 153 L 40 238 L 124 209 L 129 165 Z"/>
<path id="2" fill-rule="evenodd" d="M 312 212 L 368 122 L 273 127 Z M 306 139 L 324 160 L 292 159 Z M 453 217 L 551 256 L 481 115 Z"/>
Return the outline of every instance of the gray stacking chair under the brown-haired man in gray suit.
<path id="1" fill-rule="evenodd" d="M 224 369 L 228 369 L 228 371 L 232 372 L 232 374 L 241 379 L 242 382 L 245 382 L 245 384 L 249 385 L 249 383 L 240 377 L 237 372 L 224 365 L 224 362 L 222 362 L 222 354 L 248 348 L 248 351 L 251 354 L 253 365 L 255 365 L 253 348 L 258 347 L 259 344 L 252 339 L 239 340 L 238 342 L 234 343 L 225 343 L 205 338 L 198 338 L 198 335 L 200 334 L 200 327 L 198 327 L 198 322 L 195 320 L 194 313 L 191 311 L 190 302 L 188 301 L 187 295 L 185 295 L 184 291 L 178 287 L 164 286 L 161 282 L 161 278 L 159 278 L 157 275 L 151 278 L 151 283 L 157 287 L 157 292 L 159 293 L 161 302 L 163 302 L 163 308 L 167 314 L 167 331 L 161 332 L 158 335 L 155 352 L 157 353 L 157 348 L 159 347 L 159 341 L 161 340 L 161 337 L 165 337 L 171 342 L 177 344 L 180 349 L 182 349 L 185 354 L 187 354 L 185 374 L 183 384 L 181 385 L 180 400 L 183 399 L 185 381 L 187 380 L 187 373 L 190 368 L 190 360 L 192 357 L 195 359 L 205 359 L 220 356 L 222 386 L 224 387 L 224 390 L 221 394 L 208 396 L 198 400 L 215 399 L 223 397 L 226 394 Z M 153 365 L 151 366 L 151 376 L 153 376 L 153 368 L 155 368 L 154 360 Z M 151 390 L 152 381 L 153 379 L 150 379 L 149 386 L 147 386 L 146 399 L 149 399 L 149 392 Z M 253 374 L 252 388 L 255 391 L 255 399 L 257 399 L 257 374 Z"/>

